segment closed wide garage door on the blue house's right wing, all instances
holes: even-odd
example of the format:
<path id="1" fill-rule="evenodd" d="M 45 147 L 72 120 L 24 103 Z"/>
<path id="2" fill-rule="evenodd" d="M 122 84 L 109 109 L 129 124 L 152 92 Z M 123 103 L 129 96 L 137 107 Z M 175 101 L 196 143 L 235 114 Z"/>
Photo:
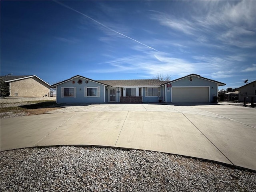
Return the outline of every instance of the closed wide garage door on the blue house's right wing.
<path id="1" fill-rule="evenodd" d="M 209 102 L 208 87 L 178 87 L 172 88 L 173 103 L 207 103 Z"/>

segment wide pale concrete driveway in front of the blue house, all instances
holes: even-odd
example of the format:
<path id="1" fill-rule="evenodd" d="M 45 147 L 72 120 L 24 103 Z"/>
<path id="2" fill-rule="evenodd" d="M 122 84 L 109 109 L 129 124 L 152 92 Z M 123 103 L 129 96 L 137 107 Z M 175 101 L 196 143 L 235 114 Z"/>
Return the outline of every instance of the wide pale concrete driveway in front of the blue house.
<path id="1" fill-rule="evenodd" d="M 91 104 L 1 119 L 1 150 L 89 145 L 191 156 L 256 170 L 256 109 L 226 104 Z"/>

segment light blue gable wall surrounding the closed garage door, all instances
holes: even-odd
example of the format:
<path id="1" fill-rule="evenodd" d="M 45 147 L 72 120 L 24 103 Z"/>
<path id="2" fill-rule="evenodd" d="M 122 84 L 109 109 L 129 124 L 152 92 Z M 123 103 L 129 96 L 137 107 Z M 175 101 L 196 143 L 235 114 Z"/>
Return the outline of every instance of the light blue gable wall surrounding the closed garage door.
<path id="1" fill-rule="evenodd" d="M 210 102 L 214 102 L 214 95 L 218 96 L 218 86 L 217 83 L 198 78 L 197 76 L 192 76 L 193 80 L 190 82 L 190 77 L 172 82 L 172 87 L 193 87 L 193 86 L 209 86 L 210 87 Z M 213 89 L 212 89 L 213 88 Z M 170 89 L 169 89 L 170 90 Z M 167 102 L 171 102 L 171 91 L 167 92 Z"/>

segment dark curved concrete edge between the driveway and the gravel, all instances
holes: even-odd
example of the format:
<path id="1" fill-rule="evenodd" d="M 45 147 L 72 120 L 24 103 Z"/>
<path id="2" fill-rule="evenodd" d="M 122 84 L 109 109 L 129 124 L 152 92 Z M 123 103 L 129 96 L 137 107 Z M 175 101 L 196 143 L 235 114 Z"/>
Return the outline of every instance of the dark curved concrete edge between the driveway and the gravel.
<path id="1" fill-rule="evenodd" d="M 150 151 L 150 152 L 159 152 L 159 153 L 164 153 L 164 154 L 168 154 L 168 155 L 176 155 L 176 156 L 181 156 L 184 158 L 192 158 L 194 160 L 201 160 L 204 162 L 212 162 L 215 164 L 220 164 L 223 166 L 226 166 L 228 168 L 236 168 L 236 169 L 240 169 L 240 170 L 247 170 L 250 172 L 254 172 L 256 173 L 256 170 L 253 169 L 249 169 L 246 167 L 241 167 L 241 166 L 237 166 L 234 164 L 228 164 L 228 163 L 224 163 L 224 162 L 219 162 L 219 161 L 215 161 L 215 160 L 210 160 L 210 159 L 206 159 L 206 158 L 198 158 L 198 157 L 194 157 L 194 156 L 186 156 L 183 154 L 175 154 L 175 153 L 168 153 L 168 152 L 160 152 L 160 151 L 154 151 L 154 150 L 145 150 L 145 149 L 137 149 L 137 148 L 126 148 L 126 147 L 115 147 L 115 146 L 103 146 L 103 145 L 45 145 L 45 146 L 32 146 L 32 147 L 24 147 L 24 148 L 15 148 L 15 149 L 10 149 L 10 150 L 1 150 L 1 152 L 4 151 L 12 151 L 12 150 L 20 150 L 20 149 L 29 149 L 29 148 L 52 148 L 52 147 L 62 147 L 62 146 L 67 146 L 67 147 L 82 147 L 82 148 L 111 148 L 111 149 L 118 149 L 118 150 L 139 150 L 139 151 Z"/>

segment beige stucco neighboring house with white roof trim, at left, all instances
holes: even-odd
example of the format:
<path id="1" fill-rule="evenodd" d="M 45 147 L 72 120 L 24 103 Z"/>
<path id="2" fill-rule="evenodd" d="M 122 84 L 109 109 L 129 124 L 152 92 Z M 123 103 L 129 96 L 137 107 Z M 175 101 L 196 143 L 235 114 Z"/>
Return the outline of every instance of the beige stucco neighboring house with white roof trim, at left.
<path id="1" fill-rule="evenodd" d="M 35 75 L 7 76 L 5 83 L 10 86 L 10 97 L 48 97 L 50 92 L 50 84 Z"/>

